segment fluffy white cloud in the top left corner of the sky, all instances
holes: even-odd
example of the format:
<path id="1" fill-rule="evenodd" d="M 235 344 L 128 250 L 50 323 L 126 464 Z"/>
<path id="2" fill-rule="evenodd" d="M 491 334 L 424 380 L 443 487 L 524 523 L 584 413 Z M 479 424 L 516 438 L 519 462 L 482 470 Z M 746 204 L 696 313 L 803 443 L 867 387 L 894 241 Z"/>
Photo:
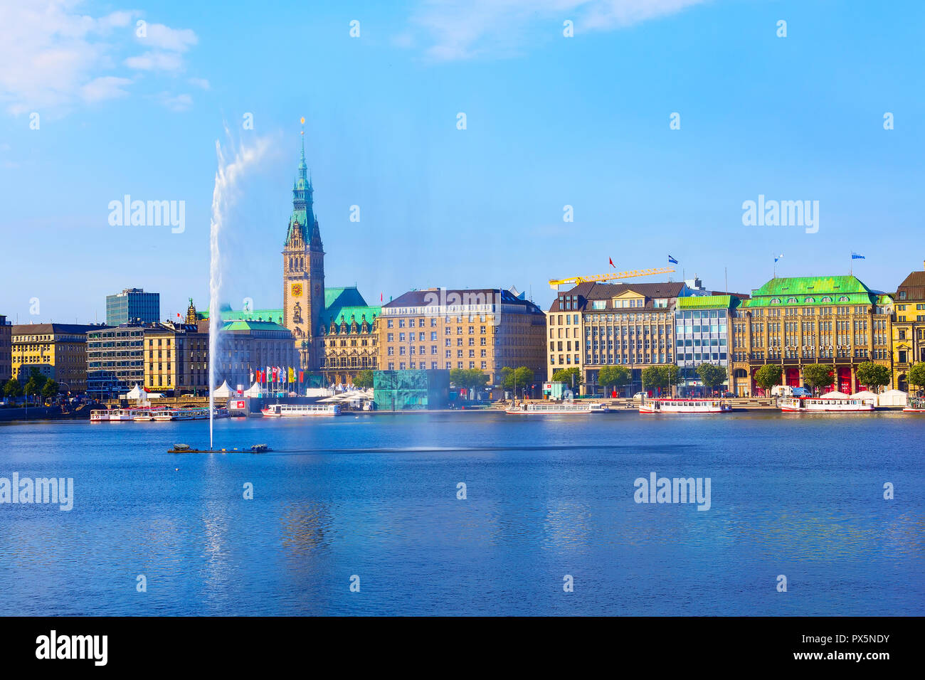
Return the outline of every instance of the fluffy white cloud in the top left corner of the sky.
<path id="1" fill-rule="evenodd" d="M 117 10 L 94 18 L 80 11 L 83 4 L 0 0 L 0 105 L 8 113 L 62 115 L 76 105 L 124 97 L 133 82 L 125 72 L 127 61 L 134 59 L 128 68 L 136 70 L 179 71 L 179 53 L 197 42 L 190 30 L 149 25 L 156 56 L 130 57 L 138 12 Z M 161 56 L 161 50 L 169 56 Z"/>

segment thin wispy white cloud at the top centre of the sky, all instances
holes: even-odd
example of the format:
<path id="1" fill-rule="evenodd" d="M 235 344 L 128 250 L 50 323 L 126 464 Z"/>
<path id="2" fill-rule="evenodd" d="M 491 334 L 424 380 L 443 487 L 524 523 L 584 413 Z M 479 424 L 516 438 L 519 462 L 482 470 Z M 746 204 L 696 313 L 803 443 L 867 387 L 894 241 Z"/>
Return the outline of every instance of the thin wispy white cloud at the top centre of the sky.
<path id="1" fill-rule="evenodd" d="M 606 31 L 679 12 L 708 0 L 422 0 L 411 23 L 425 35 L 427 56 L 438 60 L 512 54 L 542 22 L 559 31 L 565 19 L 580 31 Z M 401 36 L 400 43 L 412 44 Z"/>

